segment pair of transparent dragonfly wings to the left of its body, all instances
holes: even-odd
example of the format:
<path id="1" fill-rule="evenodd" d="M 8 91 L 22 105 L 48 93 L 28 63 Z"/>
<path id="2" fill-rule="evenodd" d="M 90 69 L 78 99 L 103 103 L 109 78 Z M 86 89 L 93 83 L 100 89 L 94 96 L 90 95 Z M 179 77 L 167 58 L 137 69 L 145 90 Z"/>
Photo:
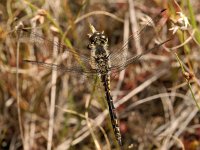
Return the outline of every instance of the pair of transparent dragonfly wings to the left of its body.
<path id="1" fill-rule="evenodd" d="M 96 69 L 92 68 L 94 64 L 90 59 L 89 50 L 69 48 L 26 29 L 19 29 L 18 33 L 20 42 L 29 43 L 36 56 L 35 60 L 24 60 L 24 62 L 62 72 L 97 73 Z M 58 53 L 58 64 L 47 62 L 52 59 L 53 49 Z"/>

